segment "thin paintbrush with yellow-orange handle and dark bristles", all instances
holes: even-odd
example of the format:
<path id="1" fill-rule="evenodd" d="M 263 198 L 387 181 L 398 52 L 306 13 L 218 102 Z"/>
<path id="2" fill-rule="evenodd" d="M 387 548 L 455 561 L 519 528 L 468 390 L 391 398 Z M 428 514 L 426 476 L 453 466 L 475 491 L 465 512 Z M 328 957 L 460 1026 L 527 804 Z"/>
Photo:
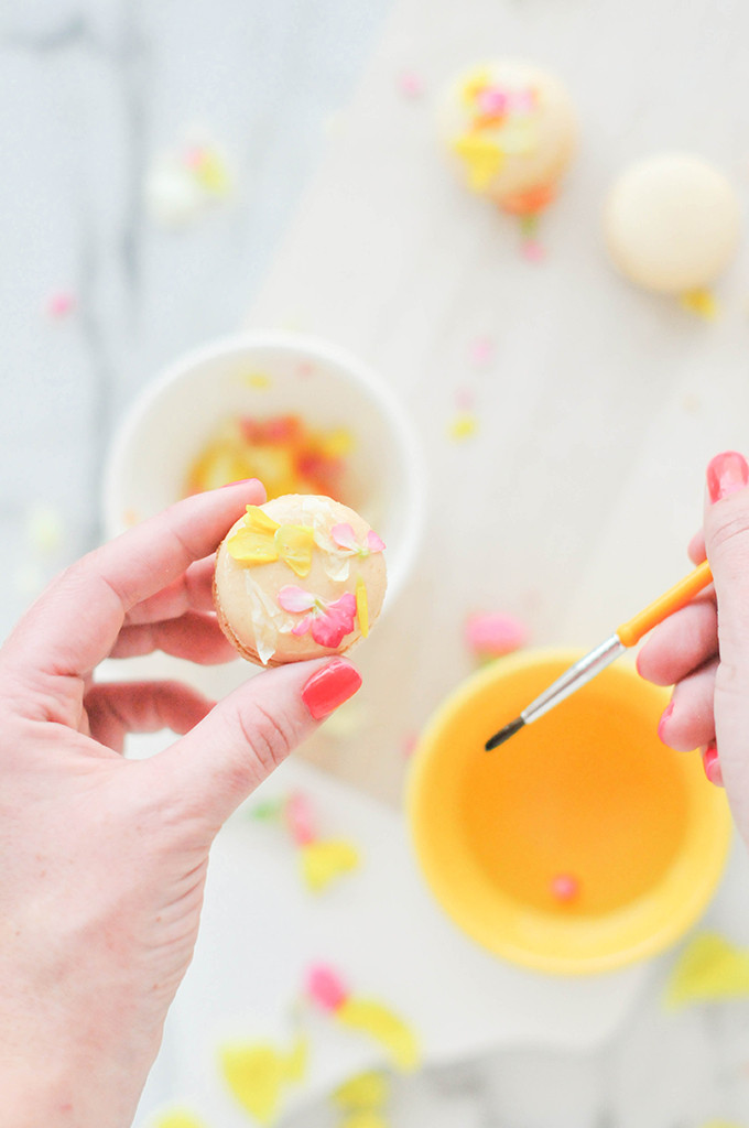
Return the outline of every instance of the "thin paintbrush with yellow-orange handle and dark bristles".
<path id="1" fill-rule="evenodd" d="M 571 666 L 569 670 L 565 670 L 548 689 L 545 689 L 530 705 L 526 706 L 520 716 L 516 717 L 514 721 L 510 721 L 509 724 L 505 724 L 503 729 L 500 729 L 499 732 L 495 732 L 486 741 L 486 751 L 491 752 L 493 748 L 503 744 L 505 740 L 513 737 L 525 725 L 537 721 L 544 713 L 548 713 L 550 708 L 563 702 L 565 697 L 580 689 L 581 686 L 584 686 L 585 682 L 606 669 L 615 659 L 624 654 L 625 650 L 638 643 L 654 626 L 658 626 L 669 615 L 685 607 L 703 588 L 712 583 L 712 580 L 713 575 L 710 565 L 705 561 L 694 572 L 686 575 L 684 580 L 680 580 L 679 583 L 670 588 L 660 599 L 650 603 L 644 611 L 640 611 L 634 618 L 617 627 L 610 638 L 607 638 L 600 646 L 591 650 L 589 654 L 585 654 L 579 662 Z"/>

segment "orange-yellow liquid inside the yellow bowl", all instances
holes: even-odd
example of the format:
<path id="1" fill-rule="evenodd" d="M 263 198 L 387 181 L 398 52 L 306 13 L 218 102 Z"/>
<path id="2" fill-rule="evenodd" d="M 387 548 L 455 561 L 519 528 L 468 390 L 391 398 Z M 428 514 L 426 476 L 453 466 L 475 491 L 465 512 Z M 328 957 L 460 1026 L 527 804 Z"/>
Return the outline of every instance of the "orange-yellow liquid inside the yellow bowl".
<path id="1" fill-rule="evenodd" d="M 628 721 L 598 698 L 584 716 L 561 705 L 495 751 L 466 756 L 464 834 L 493 884 L 546 911 L 600 914 L 661 879 L 688 796 L 677 754 Z M 579 890 L 569 902 L 554 892 L 561 874 Z"/>

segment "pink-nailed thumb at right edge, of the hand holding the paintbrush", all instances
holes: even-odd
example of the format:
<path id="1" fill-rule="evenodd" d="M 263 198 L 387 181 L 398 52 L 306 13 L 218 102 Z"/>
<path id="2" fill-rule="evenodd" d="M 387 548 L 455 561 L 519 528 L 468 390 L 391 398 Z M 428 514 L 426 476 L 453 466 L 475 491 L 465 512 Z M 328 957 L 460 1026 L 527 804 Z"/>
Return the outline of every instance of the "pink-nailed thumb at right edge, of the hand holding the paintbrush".
<path id="1" fill-rule="evenodd" d="M 726 451 L 707 467 L 705 549 L 717 600 L 715 737 L 734 816 L 749 827 L 749 466 Z M 738 811 L 737 804 L 741 805 Z"/>

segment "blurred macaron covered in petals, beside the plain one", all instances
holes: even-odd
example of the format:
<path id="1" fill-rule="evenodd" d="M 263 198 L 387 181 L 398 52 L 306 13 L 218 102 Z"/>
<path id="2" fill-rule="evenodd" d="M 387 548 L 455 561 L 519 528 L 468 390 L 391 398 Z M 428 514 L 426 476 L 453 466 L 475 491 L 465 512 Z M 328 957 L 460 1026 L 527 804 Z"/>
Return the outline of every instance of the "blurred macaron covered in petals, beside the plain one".
<path id="1" fill-rule="evenodd" d="M 499 60 L 451 83 L 441 132 L 470 191 L 512 214 L 534 215 L 557 193 L 578 123 L 558 79 L 532 63 Z"/>

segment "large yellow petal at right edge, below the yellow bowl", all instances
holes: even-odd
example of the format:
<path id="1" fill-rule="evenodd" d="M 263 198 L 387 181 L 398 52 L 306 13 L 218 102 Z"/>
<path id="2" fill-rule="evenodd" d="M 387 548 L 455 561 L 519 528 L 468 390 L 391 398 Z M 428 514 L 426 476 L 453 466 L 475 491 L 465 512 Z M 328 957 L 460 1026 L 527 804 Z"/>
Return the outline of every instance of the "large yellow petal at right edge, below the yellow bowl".
<path id="1" fill-rule="evenodd" d="M 716 933 L 703 933 L 686 946 L 666 988 L 668 1006 L 749 998 L 749 950 Z"/>

